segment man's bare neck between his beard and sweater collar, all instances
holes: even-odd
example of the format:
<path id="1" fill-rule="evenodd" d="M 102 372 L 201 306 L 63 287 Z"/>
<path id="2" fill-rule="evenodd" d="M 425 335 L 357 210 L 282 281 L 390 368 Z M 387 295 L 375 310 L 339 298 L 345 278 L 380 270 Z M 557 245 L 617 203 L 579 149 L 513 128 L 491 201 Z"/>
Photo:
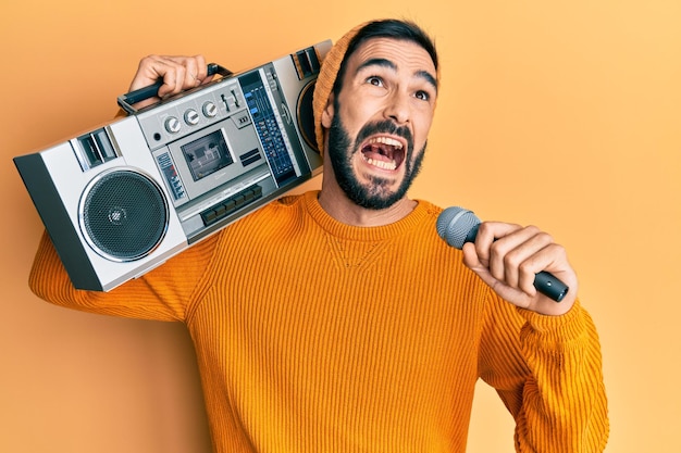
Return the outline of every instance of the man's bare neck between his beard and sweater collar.
<path id="1" fill-rule="evenodd" d="M 337 186 L 334 190 L 322 184 L 319 204 L 338 222 L 351 226 L 372 227 L 393 224 L 405 218 L 413 211 L 417 202 L 405 197 L 384 210 L 370 210 L 352 202 Z"/>

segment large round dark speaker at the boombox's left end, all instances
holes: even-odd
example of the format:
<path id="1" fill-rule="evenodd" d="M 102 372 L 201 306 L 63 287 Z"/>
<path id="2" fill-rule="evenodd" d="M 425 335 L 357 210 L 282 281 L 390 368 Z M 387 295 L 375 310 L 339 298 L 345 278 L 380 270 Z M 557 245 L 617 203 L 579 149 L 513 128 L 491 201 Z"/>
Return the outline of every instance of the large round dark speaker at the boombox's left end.
<path id="1" fill-rule="evenodd" d="M 151 253 L 168 230 L 168 201 L 159 185 L 137 169 L 102 172 L 83 191 L 81 228 L 106 259 L 128 262 Z"/>

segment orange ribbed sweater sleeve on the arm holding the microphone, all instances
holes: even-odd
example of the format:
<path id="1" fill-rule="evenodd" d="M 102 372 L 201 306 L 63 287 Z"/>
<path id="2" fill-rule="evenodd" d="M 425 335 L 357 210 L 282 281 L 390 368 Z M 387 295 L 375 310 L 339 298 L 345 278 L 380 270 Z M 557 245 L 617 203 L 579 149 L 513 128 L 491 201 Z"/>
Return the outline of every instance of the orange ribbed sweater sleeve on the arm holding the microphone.
<path id="1" fill-rule="evenodd" d="M 481 377 L 516 419 L 516 451 L 605 449 L 609 423 L 600 345 L 579 301 L 562 316 L 544 316 L 494 299 L 480 357 Z"/>

